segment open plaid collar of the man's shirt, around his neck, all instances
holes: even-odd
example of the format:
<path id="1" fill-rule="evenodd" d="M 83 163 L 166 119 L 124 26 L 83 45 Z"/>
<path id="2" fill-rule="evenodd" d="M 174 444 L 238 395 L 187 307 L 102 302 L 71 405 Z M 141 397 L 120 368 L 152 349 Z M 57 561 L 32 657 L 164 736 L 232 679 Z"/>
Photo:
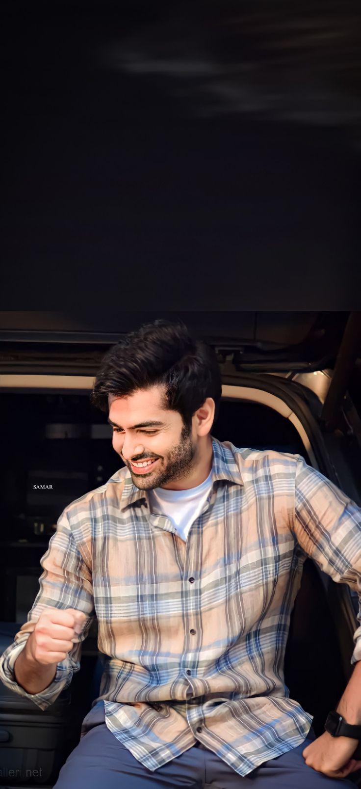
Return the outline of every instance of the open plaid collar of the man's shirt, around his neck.
<path id="1" fill-rule="evenodd" d="M 212 438 L 213 464 L 212 464 L 212 486 L 218 480 L 228 480 L 238 485 L 243 485 L 240 473 L 240 455 L 237 454 L 236 461 L 235 449 L 230 441 L 221 442 Z M 121 469 L 122 470 L 122 469 Z M 129 507 L 141 499 L 147 501 L 147 491 L 140 490 L 132 482 L 132 477 L 128 474 L 125 477 L 125 485 L 121 494 L 121 510 Z"/>

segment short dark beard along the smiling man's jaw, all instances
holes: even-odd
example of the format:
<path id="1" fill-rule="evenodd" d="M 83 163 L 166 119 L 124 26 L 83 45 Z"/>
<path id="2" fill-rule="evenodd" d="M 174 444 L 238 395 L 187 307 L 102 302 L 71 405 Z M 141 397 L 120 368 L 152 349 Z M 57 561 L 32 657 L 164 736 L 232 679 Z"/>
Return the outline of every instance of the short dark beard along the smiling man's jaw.
<path id="1" fill-rule="evenodd" d="M 166 467 L 162 467 L 162 458 L 160 458 L 159 468 L 154 469 L 154 473 L 147 477 L 132 472 L 132 481 L 140 490 L 162 488 L 167 482 L 177 482 L 184 477 L 190 477 L 196 462 L 197 450 L 192 442 L 192 425 L 189 427 L 184 425 L 180 433 L 180 443 L 169 452 Z M 127 463 L 127 466 L 130 470 L 131 464 Z"/>

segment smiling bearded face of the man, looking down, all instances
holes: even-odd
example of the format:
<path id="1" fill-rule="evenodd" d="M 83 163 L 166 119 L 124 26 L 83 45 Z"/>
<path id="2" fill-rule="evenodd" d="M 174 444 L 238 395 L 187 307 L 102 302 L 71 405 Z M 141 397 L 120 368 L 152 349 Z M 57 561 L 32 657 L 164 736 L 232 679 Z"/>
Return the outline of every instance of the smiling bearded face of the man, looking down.
<path id="1" fill-rule="evenodd" d="M 180 413 L 162 408 L 162 390 L 151 387 L 124 398 L 109 395 L 108 402 L 113 447 L 136 487 L 172 489 L 173 482 L 183 479 L 187 487 L 199 459 L 196 436 L 193 440 L 192 428 L 184 427 Z M 133 465 L 149 460 L 150 466 Z"/>

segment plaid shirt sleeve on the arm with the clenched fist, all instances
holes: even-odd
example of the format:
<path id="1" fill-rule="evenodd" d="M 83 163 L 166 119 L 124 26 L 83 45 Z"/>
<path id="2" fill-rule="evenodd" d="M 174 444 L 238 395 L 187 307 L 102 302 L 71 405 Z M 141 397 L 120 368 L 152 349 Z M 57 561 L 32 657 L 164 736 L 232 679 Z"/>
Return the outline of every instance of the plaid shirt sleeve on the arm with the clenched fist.
<path id="1" fill-rule="evenodd" d="M 13 644 L 0 656 L 0 679 L 9 690 L 31 699 L 40 709 L 47 709 L 61 691 L 69 686 L 73 674 L 79 671 L 81 645 L 95 618 L 91 568 L 87 567 L 76 546 L 66 508 L 58 518 L 56 532 L 50 537 L 49 547 L 40 559 L 40 565 L 43 574 L 39 578 L 39 592 L 28 613 L 28 621 L 20 627 Z M 65 660 L 58 663 L 54 680 L 39 694 L 28 694 L 15 679 L 14 664 L 34 630 L 39 615 L 47 607 L 76 608 L 77 611 L 84 611 L 87 619 L 73 649 Z"/>

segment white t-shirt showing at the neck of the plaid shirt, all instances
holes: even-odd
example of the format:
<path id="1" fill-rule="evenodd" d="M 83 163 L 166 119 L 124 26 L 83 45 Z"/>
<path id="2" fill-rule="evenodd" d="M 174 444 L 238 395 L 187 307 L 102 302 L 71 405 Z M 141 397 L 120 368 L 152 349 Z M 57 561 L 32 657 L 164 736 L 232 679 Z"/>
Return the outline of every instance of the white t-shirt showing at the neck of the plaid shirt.
<path id="1" fill-rule="evenodd" d="M 212 470 L 210 470 L 207 480 L 195 488 L 188 488 L 185 491 L 153 488 L 153 490 L 148 490 L 151 512 L 170 518 L 177 533 L 186 542 L 188 531 L 195 518 L 198 518 L 202 512 L 211 488 Z"/>

